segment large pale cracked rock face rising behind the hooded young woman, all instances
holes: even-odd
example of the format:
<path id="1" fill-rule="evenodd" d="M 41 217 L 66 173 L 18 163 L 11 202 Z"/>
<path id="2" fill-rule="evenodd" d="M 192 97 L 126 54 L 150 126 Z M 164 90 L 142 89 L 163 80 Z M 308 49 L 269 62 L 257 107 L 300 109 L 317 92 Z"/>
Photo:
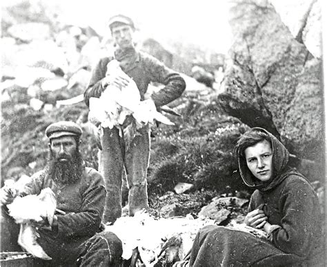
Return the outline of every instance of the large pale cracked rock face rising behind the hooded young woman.
<path id="1" fill-rule="evenodd" d="M 321 59 L 295 39 L 268 1 L 234 1 L 230 25 L 235 43 L 219 104 L 249 126 L 270 130 L 297 157 L 321 164 Z"/>

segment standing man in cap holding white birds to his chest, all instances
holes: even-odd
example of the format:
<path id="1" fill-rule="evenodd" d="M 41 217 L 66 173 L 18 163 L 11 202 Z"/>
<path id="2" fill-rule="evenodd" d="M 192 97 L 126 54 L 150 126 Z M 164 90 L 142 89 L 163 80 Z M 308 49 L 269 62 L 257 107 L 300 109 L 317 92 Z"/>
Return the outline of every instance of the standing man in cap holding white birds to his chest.
<path id="1" fill-rule="evenodd" d="M 181 96 L 186 88 L 184 79 L 154 57 L 135 49 L 133 41 L 135 26 L 132 19 L 121 14 L 116 15 L 109 20 L 109 28 L 115 41 L 115 55 L 101 59 L 93 70 L 90 84 L 84 93 L 87 106 L 89 106 L 90 97 L 100 97 L 101 92 L 109 84 L 126 86 L 123 77 L 119 77 L 116 73 L 106 74 L 107 64 L 112 59 L 117 59 L 123 72 L 135 81 L 141 101 L 144 100 L 151 81 L 165 86 L 151 96 L 157 108 Z M 128 124 L 128 119 L 124 126 L 126 124 Z M 124 137 L 119 136 L 118 128 L 103 128 L 102 130 L 99 171 L 105 179 L 107 189 L 103 220 L 113 222 L 121 216 L 123 168 L 126 170 L 129 186 L 129 214 L 132 216 L 138 210 L 148 209 L 146 176 L 150 159 L 150 127 L 146 125 L 138 130 L 128 150 L 125 149 Z"/>

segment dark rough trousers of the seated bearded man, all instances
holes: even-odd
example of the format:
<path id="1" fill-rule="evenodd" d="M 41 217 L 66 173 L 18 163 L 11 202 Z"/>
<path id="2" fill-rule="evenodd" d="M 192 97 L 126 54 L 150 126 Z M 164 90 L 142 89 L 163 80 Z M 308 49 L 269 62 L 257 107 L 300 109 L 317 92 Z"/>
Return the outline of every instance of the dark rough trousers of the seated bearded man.
<path id="1" fill-rule="evenodd" d="M 1 207 L 3 235 L 2 251 L 21 251 L 17 244 L 19 226 Z M 37 266 L 119 266 L 123 253 L 120 239 L 111 232 L 103 231 L 92 237 L 56 239 L 39 230 L 38 244 L 52 257 L 50 261 L 36 259 Z"/>

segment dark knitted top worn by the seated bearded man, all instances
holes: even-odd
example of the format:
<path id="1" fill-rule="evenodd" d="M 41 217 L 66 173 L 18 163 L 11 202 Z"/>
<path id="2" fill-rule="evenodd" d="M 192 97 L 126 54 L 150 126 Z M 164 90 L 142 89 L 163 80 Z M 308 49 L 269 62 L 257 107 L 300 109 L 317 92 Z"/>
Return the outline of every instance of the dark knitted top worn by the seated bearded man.
<path id="1" fill-rule="evenodd" d="M 57 215 L 58 228 L 40 230 L 52 239 L 65 240 L 70 237 L 88 239 L 99 231 L 106 189 L 103 177 L 93 168 L 84 168 L 83 175 L 74 184 L 58 186 L 45 170 L 35 173 L 20 195 L 39 195 L 43 188 L 51 188 L 57 198 L 57 208 L 66 215 Z"/>

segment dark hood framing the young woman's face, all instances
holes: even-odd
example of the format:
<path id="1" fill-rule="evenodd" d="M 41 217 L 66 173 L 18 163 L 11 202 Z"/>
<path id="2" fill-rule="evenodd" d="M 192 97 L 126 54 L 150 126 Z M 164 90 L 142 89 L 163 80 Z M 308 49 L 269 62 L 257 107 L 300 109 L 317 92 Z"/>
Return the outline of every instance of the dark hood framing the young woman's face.
<path id="1" fill-rule="evenodd" d="M 270 178 L 269 181 L 266 181 L 265 183 L 262 181 L 259 181 L 257 178 L 255 178 L 254 175 L 252 175 L 252 172 L 248 169 L 248 166 L 246 164 L 246 159 L 243 157 L 239 157 L 239 172 L 241 174 L 241 177 L 244 181 L 244 183 L 252 188 L 252 189 L 259 189 L 259 190 L 270 190 L 271 188 L 274 188 L 279 184 L 281 181 L 285 179 L 285 175 L 283 173 L 286 170 L 286 166 L 288 164 L 288 157 L 289 152 L 285 148 L 283 144 L 270 132 L 263 128 L 255 127 L 251 128 L 250 131 L 253 130 L 259 130 L 261 132 L 265 132 L 270 137 L 270 143 L 271 148 L 273 150 L 273 177 Z"/>

